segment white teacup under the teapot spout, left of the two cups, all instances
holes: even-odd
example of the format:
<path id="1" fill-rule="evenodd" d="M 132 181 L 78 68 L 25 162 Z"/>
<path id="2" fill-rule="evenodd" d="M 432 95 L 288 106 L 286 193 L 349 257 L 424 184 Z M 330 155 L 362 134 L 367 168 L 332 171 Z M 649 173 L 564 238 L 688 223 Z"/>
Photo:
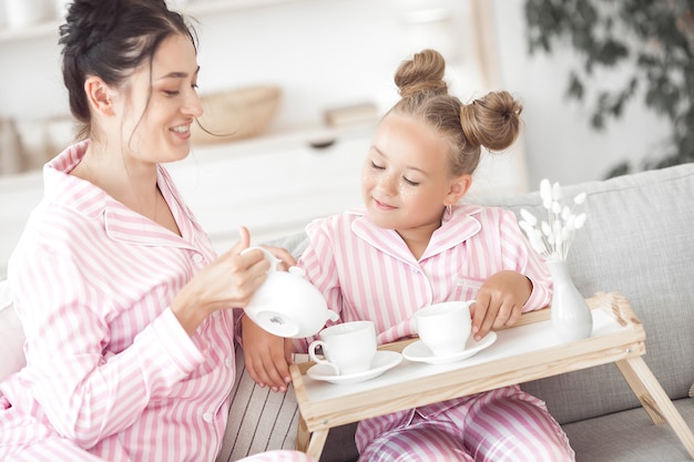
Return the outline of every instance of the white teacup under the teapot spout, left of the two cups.
<path id="1" fill-rule="evenodd" d="M 308 346 L 308 356 L 318 365 L 329 366 L 336 376 L 349 376 L 371 369 L 376 356 L 376 327 L 372 321 L 350 321 L 325 328 L 320 340 Z M 325 359 L 316 356 L 323 348 Z"/>

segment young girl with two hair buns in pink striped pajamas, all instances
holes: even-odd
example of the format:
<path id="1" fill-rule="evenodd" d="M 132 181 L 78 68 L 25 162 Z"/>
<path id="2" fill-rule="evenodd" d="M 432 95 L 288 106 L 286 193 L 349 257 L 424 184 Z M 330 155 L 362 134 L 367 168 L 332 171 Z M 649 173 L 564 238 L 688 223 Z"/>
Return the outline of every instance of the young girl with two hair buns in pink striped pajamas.
<path id="1" fill-rule="evenodd" d="M 431 50 L 400 65 L 401 100 L 379 123 L 364 165 L 365 207 L 307 227 L 299 265 L 343 321 L 375 321 L 379 342 L 415 335 L 412 315 L 435 302 L 474 299 L 472 331 L 481 339 L 550 301 L 549 275 L 513 213 L 460 203 L 480 147 L 516 140 L 521 105 L 506 92 L 462 104 L 448 94 L 443 71 Z M 279 374 L 284 367 L 276 366 Z M 368 419 L 356 443 L 369 462 L 574 456 L 544 404 L 518 386 Z"/>

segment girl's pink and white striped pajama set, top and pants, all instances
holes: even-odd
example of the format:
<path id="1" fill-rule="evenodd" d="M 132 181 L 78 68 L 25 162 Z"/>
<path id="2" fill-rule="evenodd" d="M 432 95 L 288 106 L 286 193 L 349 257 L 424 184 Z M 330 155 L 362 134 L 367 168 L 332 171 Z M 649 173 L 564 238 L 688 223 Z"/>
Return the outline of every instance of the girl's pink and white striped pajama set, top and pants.
<path id="1" fill-rule="evenodd" d="M 395 230 L 363 208 L 320 218 L 299 265 L 340 320 L 370 319 L 379 343 L 416 332 L 412 315 L 446 300 L 473 299 L 487 278 L 519 271 L 532 281 L 523 311 L 549 304 L 551 280 L 512 212 L 455 206 L 419 260 Z M 297 341 L 305 351 L 310 339 Z M 544 403 L 518 386 L 363 421 L 361 460 L 564 461 L 573 451 Z"/>

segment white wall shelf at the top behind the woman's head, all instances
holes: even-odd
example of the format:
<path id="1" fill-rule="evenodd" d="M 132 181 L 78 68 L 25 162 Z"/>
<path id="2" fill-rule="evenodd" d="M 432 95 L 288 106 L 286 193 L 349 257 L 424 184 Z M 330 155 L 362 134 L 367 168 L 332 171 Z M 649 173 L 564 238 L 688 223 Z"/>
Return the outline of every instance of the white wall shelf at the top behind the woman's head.
<path id="1" fill-rule="evenodd" d="M 220 12 L 242 11 L 263 8 L 297 0 L 191 0 L 184 8 L 187 16 L 206 16 Z M 62 21 L 52 20 L 32 24 L 22 29 L 0 29 L 0 43 L 48 38 L 58 40 L 58 28 Z"/>

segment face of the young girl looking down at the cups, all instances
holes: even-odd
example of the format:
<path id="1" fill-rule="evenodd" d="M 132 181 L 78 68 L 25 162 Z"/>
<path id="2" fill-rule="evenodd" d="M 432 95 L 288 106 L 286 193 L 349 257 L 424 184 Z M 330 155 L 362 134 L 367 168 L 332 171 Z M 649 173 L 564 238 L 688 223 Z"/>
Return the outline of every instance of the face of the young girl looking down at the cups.
<path id="1" fill-rule="evenodd" d="M 449 146 L 436 130 L 416 120 L 388 114 L 376 129 L 364 164 L 361 194 L 370 219 L 404 238 L 428 238 L 442 212 L 469 187 L 470 176 L 453 177 Z M 407 240 L 407 238 L 406 238 Z"/>

